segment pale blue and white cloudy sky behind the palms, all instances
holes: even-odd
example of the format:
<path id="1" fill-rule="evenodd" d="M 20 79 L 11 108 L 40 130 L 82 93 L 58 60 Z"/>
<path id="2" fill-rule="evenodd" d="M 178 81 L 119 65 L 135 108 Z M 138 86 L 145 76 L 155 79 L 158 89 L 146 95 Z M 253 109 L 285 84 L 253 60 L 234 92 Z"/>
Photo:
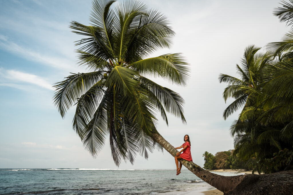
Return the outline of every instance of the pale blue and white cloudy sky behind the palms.
<path id="1" fill-rule="evenodd" d="M 117 1 L 115 4 L 122 1 Z M 178 92 L 185 100 L 185 118 L 159 119 L 159 133 L 174 147 L 189 134 L 193 162 L 203 166 L 202 154 L 233 149 L 229 127 L 239 112 L 224 120 L 225 103 L 220 73 L 236 75 L 244 49 L 265 47 L 289 31 L 272 15 L 277 0 L 144 0 L 165 14 L 176 32 L 171 49 L 150 57 L 183 53 L 191 67 L 186 87 L 154 79 Z M 113 4 L 113 6 L 115 6 Z M 54 107 L 52 85 L 70 73 L 87 72 L 78 66 L 69 23 L 89 25 L 91 1 L 0 0 L 0 168 L 97 168 L 117 169 L 109 141 L 97 158 L 83 148 L 72 129 L 74 108 L 62 119 Z M 160 118 L 160 115 L 158 115 Z M 108 139 L 109 140 L 109 139 Z M 134 165 L 119 169 L 175 169 L 166 151 L 149 159 L 137 155 Z"/>

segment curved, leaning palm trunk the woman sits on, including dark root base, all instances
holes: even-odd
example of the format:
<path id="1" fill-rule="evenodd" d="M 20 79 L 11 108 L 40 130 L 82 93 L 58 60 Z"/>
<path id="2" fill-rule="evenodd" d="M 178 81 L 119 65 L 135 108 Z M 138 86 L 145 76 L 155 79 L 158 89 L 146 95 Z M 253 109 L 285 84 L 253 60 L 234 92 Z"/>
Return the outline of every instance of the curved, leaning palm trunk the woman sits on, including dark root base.
<path id="1" fill-rule="evenodd" d="M 159 133 L 152 138 L 172 156 L 178 151 Z M 224 194 L 293 194 L 293 171 L 265 175 L 222 176 L 204 170 L 191 161 L 179 160 L 188 170 Z M 174 172 L 175 174 L 175 172 Z"/>

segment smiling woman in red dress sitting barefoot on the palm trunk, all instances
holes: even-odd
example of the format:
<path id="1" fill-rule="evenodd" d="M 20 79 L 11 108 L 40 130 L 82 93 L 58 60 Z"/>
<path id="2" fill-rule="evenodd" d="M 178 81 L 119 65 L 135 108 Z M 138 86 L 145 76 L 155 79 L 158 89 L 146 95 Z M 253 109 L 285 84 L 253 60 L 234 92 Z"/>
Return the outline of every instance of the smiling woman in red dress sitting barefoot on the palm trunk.
<path id="1" fill-rule="evenodd" d="M 191 161 L 192 162 L 192 158 L 191 158 L 191 153 L 190 153 L 190 140 L 189 140 L 189 136 L 185 135 L 184 136 L 184 144 L 182 144 L 182 146 L 179 146 L 175 149 L 180 149 L 183 148 L 180 152 L 178 152 L 175 156 L 175 163 L 176 163 L 176 167 L 177 167 L 177 174 L 180 174 L 180 170 L 182 168 L 182 164 L 180 163 L 180 166 L 178 166 L 178 159 L 185 159 L 187 161 Z M 180 154 L 183 151 L 182 154 Z"/>

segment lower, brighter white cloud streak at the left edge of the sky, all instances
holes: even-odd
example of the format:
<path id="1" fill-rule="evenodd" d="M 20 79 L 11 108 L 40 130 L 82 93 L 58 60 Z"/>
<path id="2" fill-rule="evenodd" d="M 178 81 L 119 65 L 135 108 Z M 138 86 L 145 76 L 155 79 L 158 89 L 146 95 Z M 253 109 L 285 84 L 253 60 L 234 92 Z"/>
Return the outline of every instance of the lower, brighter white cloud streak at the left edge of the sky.
<path id="1" fill-rule="evenodd" d="M 13 81 L 27 82 L 27 83 L 38 85 L 45 89 L 54 90 L 54 88 L 52 87 L 52 84 L 50 84 L 45 79 L 37 75 L 23 73 L 17 70 L 3 70 L 3 69 L 0 69 L 0 75 Z M 21 88 L 21 86 L 19 86 L 18 84 L 0 83 L 0 85 L 15 87 L 18 89 Z"/>

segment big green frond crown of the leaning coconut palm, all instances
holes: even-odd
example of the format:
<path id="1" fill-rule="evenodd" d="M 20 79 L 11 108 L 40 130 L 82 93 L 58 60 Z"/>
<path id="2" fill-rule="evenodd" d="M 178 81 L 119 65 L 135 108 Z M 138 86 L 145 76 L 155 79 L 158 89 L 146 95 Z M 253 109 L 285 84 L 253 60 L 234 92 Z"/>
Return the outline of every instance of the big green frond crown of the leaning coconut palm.
<path id="1" fill-rule="evenodd" d="M 185 58 L 166 54 L 147 58 L 161 48 L 169 48 L 174 32 L 166 16 L 138 1 L 94 0 L 86 26 L 72 21 L 72 32 L 83 35 L 76 42 L 80 65 L 91 72 L 69 75 L 56 83 L 54 104 L 62 118 L 76 105 L 73 128 L 94 156 L 110 134 L 112 157 L 132 164 L 137 153 L 161 146 L 151 137 L 156 133 L 156 112 L 168 125 L 166 112 L 183 115 L 184 100 L 145 76 L 161 77 L 185 86 L 189 66 Z"/>

